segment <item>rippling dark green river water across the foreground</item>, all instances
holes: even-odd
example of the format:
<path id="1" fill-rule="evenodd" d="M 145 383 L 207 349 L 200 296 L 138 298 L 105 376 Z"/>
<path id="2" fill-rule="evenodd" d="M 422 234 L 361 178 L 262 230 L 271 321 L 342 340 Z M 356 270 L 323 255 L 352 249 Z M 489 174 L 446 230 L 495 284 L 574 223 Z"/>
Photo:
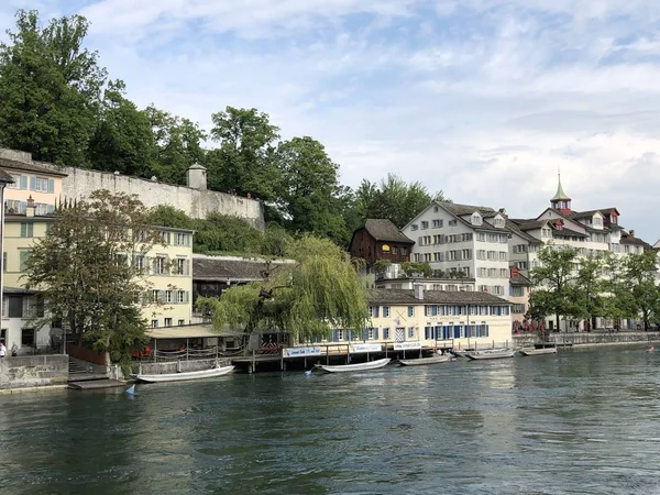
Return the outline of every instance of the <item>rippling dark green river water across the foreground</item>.
<path id="1" fill-rule="evenodd" d="M 0 493 L 656 494 L 659 364 L 636 345 L 0 396 Z"/>

